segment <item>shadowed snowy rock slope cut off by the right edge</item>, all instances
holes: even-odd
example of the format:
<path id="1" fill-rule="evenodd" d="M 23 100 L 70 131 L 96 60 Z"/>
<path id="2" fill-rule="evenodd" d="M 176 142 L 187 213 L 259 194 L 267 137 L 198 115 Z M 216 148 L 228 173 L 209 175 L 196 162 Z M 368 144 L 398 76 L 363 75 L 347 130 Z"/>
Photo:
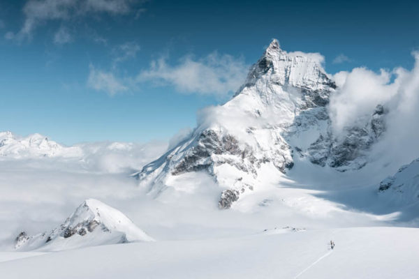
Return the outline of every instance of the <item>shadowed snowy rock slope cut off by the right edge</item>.
<path id="1" fill-rule="evenodd" d="M 381 181 L 380 194 L 397 205 L 419 202 L 419 158 L 400 167 L 393 176 Z"/>

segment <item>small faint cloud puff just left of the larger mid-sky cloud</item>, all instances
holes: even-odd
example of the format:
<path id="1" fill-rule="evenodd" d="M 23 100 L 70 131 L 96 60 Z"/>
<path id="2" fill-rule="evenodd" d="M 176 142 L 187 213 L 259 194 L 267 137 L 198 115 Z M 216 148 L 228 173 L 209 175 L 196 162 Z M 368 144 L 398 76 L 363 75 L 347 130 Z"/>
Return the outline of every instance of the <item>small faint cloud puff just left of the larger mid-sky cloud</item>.
<path id="1" fill-rule="evenodd" d="M 128 90 L 122 80 L 119 80 L 113 73 L 96 70 L 94 66 L 90 66 L 89 78 L 87 86 L 96 91 L 104 91 L 110 96 Z"/>

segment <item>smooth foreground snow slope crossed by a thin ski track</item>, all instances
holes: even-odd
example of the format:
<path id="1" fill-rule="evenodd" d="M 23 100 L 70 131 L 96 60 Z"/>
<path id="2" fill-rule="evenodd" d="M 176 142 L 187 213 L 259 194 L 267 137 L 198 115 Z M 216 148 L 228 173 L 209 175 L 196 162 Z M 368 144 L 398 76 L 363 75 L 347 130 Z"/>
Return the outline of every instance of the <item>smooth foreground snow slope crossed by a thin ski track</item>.
<path id="1" fill-rule="evenodd" d="M 418 229 L 362 227 L 97 246 L 0 263 L 5 278 L 418 278 Z M 335 241 L 334 250 L 328 243 Z"/>

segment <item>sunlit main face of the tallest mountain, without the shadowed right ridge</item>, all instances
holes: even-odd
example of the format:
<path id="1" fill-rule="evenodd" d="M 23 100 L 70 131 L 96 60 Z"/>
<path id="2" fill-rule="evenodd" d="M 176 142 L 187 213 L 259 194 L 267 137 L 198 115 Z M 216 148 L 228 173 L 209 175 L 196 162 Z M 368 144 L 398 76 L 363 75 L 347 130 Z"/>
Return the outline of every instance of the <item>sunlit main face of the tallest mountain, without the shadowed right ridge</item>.
<path id="1" fill-rule="evenodd" d="M 272 175 L 293 167 L 285 138 L 291 130 L 325 126 L 325 105 L 336 85 L 320 61 L 320 54 L 288 53 L 272 40 L 232 100 L 208 112 L 189 139 L 134 175 L 161 193 L 182 174 L 206 171 L 225 189 L 219 206 L 229 208 L 260 183 L 263 167 Z"/>

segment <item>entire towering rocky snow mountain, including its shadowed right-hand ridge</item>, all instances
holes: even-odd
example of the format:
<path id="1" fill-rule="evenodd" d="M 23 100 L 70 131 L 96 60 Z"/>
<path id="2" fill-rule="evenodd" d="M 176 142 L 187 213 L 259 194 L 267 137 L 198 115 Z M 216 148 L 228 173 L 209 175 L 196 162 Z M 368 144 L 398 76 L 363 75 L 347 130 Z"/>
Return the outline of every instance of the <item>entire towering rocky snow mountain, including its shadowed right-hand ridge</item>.
<path id="1" fill-rule="evenodd" d="M 337 85 L 320 54 L 286 52 L 273 40 L 232 100 L 207 109 L 191 137 L 133 174 L 154 193 L 188 172 L 205 171 L 223 189 L 219 206 L 230 208 L 257 188 L 261 169 L 286 173 L 295 156 L 341 172 L 367 164 L 367 151 L 385 130 L 378 105 L 367 123 L 334 135 L 328 112 Z"/>

